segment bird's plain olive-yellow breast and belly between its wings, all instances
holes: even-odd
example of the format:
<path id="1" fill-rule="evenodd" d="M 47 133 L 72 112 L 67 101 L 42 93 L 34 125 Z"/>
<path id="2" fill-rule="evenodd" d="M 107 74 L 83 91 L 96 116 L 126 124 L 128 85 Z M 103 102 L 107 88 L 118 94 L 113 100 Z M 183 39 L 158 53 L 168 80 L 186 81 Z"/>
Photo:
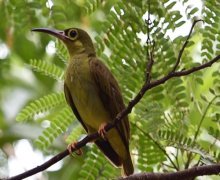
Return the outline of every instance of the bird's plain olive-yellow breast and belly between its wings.
<path id="1" fill-rule="evenodd" d="M 65 84 L 84 123 L 98 130 L 101 123 L 109 121 L 109 114 L 99 97 L 96 83 L 92 77 L 88 60 L 76 59 L 70 63 Z"/>

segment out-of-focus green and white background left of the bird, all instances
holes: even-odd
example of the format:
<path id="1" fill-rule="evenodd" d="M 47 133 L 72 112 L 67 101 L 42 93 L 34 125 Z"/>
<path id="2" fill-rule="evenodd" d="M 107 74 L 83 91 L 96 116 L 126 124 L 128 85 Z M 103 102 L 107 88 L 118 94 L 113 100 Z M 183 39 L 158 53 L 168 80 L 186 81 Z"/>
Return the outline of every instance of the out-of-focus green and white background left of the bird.
<path id="1" fill-rule="evenodd" d="M 31 33 L 30 30 L 35 27 L 82 27 L 98 31 L 97 17 L 99 20 L 105 19 L 105 11 L 109 11 L 114 1 L 106 3 L 102 11 L 92 16 L 86 15 L 83 8 L 85 3 L 84 0 L 0 0 L 0 177 L 16 175 L 35 167 L 43 163 L 45 158 L 51 157 L 49 155 L 66 147 L 63 134 L 51 150 L 42 155 L 32 146 L 45 125 L 35 121 L 18 123 L 15 119 L 19 111 L 32 100 L 53 91 L 62 91 L 63 88 L 62 82 L 32 71 L 27 65 L 30 59 L 43 59 L 64 67 L 55 54 L 54 39 Z M 63 164 L 58 163 L 57 167 L 49 170 L 50 173 L 40 173 L 32 179 L 74 178 L 72 175 L 78 174 L 82 158 L 74 158 L 75 163 L 71 161 L 71 158 L 66 158 L 64 170 L 65 166 L 69 168 L 65 171 L 57 171 Z M 69 166 L 69 163 L 72 165 Z"/>

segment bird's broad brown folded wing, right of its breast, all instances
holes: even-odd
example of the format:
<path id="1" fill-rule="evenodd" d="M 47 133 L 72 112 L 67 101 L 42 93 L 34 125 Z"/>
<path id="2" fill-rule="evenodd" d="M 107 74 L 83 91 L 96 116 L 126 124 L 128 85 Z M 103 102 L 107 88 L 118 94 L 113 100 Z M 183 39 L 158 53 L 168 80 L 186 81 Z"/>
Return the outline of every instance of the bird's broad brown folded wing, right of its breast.
<path id="1" fill-rule="evenodd" d="M 118 83 L 108 68 L 96 57 L 91 57 L 89 63 L 91 75 L 98 88 L 100 99 L 113 121 L 116 115 L 125 108 Z M 128 149 L 130 137 L 128 117 L 118 123 L 116 129 Z"/>

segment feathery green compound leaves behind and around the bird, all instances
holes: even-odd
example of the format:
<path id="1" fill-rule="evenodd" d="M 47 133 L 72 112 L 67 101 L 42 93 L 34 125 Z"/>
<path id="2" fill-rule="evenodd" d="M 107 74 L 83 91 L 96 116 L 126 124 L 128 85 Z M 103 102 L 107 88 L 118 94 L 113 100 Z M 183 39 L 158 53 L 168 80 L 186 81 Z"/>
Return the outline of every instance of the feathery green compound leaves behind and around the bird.
<path id="1" fill-rule="evenodd" d="M 149 48 L 143 40 L 148 32 L 144 19 L 149 9 L 148 1 L 57 0 L 53 2 L 52 7 L 48 6 L 48 2 L 0 2 L 1 9 L 4 9 L 0 11 L 1 17 L 9 19 L 3 22 L 0 28 L 16 29 L 14 33 L 5 30 L 8 34 L 6 36 L 1 33 L 1 39 L 3 36 L 9 38 L 7 45 L 10 47 L 10 38 L 15 36 L 15 42 L 19 42 L 18 35 L 24 33 L 27 28 L 66 28 L 70 23 L 79 26 L 83 22 L 81 26 L 89 26 L 87 28 L 98 32 L 94 37 L 97 54 L 117 77 L 127 104 L 144 83 Z M 181 5 L 183 11 L 176 8 L 177 4 Z M 204 23 L 197 24 L 194 29 L 178 70 L 202 64 L 220 54 L 218 6 L 220 3 L 216 0 L 203 1 L 201 9 L 189 0 L 151 0 L 149 32 L 150 38 L 156 44 L 153 79 L 166 75 L 173 68 L 187 35 L 182 33 L 182 29 L 189 32 L 190 27 L 186 28 L 186 24 L 193 19 L 203 19 Z M 102 18 L 98 18 L 99 16 Z M 22 20 L 19 21 L 19 18 Z M 49 127 L 42 128 L 42 133 L 35 140 L 41 149 L 52 148 L 57 137 L 66 132 L 69 134 L 66 137 L 67 143 L 76 141 L 84 131 L 75 121 L 76 118 L 65 102 L 64 94 L 57 92 L 55 88 L 59 84 L 57 80 L 62 82 L 64 78 L 68 59 L 66 49 L 62 43 L 56 41 L 56 55 L 50 57 L 42 49 L 47 46 L 48 36 L 29 33 L 27 35 L 29 38 L 22 41 L 24 44 L 14 48 L 17 53 L 14 57 L 37 71 L 34 75 L 40 80 L 36 84 L 44 88 L 36 95 L 36 100 L 27 103 L 20 111 L 17 120 L 30 122 L 34 119 L 36 123 L 49 120 Z M 30 43 L 30 36 L 34 38 L 32 41 L 38 43 Z M 39 38 L 40 41 L 37 41 Z M 23 50 L 29 44 L 31 48 L 28 52 Z M 18 43 L 16 45 L 18 46 Z M 25 60 L 22 60 L 23 57 Z M 10 68 L 11 64 L 5 65 L 5 69 Z M 10 76 L 12 75 L 9 74 Z M 7 85 L 8 78 L 3 72 L 0 72 L 0 77 L 3 84 Z M 35 88 L 39 89 L 37 85 Z M 176 171 L 203 163 L 219 162 L 219 63 L 190 76 L 169 80 L 166 84 L 148 91 L 130 114 L 130 122 L 130 149 L 136 172 Z M 84 165 L 76 177 L 102 179 L 120 176 L 119 171 L 106 161 L 95 146 L 87 148 L 88 152 L 83 156 Z"/>

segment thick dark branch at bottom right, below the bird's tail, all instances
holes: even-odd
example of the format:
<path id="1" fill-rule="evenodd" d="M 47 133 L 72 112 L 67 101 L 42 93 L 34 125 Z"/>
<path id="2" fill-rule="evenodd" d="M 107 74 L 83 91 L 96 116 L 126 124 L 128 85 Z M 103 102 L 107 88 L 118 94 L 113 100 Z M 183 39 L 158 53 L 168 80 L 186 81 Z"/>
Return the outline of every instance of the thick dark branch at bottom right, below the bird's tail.
<path id="1" fill-rule="evenodd" d="M 177 171 L 173 173 L 140 173 L 128 176 L 126 178 L 120 178 L 125 180 L 139 180 L 139 179 L 150 179 L 150 180 L 189 180 L 197 176 L 204 175 L 218 175 L 220 172 L 220 164 L 206 165 L 193 167 L 183 171 Z"/>

